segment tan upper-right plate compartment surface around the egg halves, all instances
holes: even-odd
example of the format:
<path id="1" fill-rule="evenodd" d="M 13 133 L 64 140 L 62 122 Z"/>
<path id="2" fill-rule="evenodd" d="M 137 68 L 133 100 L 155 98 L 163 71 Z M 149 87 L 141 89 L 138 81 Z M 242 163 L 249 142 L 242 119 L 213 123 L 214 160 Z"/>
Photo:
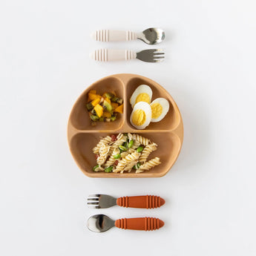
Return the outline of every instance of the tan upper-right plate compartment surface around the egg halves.
<path id="1" fill-rule="evenodd" d="M 177 128 L 177 126 L 180 125 L 180 111 L 178 110 L 174 99 L 172 99 L 170 94 L 165 91 L 162 86 L 158 85 L 157 82 L 143 78 L 142 76 L 130 79 L 126 86 L 125 102 L 127 107 L 126 120 L 128 122 L 128 125 L 130 125 L 131 128 L 134 128 L 134 126 L 132 126 L 130 122 L 130 116 L 132 112 L 130 98 L 132 93 L 134 93 L 139 85 L 148 85 L 151 88 L 153 92 L 151 102 L 153 102 L 154 99 L 161 97 L 167 99 L 170 104 L 170 108 L 166 116 L 160 122 L 151 122 L 144 130 L 171 131 L 174 130 L 174 128 Z"/>

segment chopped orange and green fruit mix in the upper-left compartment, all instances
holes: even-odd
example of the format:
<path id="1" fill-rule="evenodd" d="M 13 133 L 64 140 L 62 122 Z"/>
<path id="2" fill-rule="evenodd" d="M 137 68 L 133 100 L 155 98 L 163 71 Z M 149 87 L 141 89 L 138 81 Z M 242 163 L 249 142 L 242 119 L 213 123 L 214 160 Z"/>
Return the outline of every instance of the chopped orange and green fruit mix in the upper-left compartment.
<path id="1" fill-rule="evenodd" d="M 86 108 L 92 125 L 96 122 L 113 122 L 118 113 L 123 113 L 123 100 L 116 96 L 114 91 L 100 95 L 95 90 L 91 90 L 88 93 Z"/>

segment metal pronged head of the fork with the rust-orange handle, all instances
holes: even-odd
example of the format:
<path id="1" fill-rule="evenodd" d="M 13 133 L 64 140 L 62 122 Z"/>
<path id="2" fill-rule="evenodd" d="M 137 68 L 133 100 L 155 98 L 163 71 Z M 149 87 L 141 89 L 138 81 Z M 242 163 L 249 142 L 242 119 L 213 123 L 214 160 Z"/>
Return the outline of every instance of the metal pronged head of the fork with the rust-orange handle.
<path id="1" fill-rule="evenodd" d="M 102 209 L 116 205 L 116 198 L 108 194 L 90 194 L 87 200 L 90 208 Z"/>

